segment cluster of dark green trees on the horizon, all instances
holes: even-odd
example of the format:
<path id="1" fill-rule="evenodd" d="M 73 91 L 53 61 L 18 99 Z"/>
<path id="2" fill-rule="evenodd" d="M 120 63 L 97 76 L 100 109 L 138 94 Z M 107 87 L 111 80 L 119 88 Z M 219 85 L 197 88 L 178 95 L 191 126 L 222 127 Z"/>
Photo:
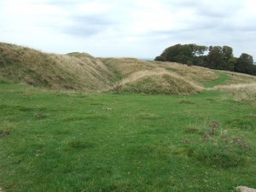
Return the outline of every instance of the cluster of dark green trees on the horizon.
<path id="1" fill-rule="evenodd" d="M 229 46 L 204 46 L 197 44 L 176 44 L 163 51 L 154 61 L 172 61 L 212 69 L 235 71 L 256 75 L 253 56 L 241 54 L 236 58 Z"/>

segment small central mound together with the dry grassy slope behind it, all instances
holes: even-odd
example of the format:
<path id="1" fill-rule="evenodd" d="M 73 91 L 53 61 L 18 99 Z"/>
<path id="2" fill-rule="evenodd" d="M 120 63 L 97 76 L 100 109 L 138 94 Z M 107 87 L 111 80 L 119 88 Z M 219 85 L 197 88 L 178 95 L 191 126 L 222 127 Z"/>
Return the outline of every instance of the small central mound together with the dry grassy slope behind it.
<path id="1" fill-rule="evenodd" d="M 202 89 L 201 83 L 218 79 L 218 75 L 202 67 L 187 67 L 170 62 L 149 62 L 131 58 L 102 59 L 119 75 L 123 92 L 189 95 Z"/>

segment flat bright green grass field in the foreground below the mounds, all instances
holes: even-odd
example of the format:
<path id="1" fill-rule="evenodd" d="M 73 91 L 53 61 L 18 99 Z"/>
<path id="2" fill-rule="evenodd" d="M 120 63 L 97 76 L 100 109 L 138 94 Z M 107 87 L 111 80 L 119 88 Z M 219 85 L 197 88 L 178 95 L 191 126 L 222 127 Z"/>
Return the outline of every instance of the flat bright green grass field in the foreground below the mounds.
<path id="1" fill-rule="evenodd" d="M 225 94 L 84 94 L 2 81 L 0 190 L 256 188 L 256 108 Z"/>

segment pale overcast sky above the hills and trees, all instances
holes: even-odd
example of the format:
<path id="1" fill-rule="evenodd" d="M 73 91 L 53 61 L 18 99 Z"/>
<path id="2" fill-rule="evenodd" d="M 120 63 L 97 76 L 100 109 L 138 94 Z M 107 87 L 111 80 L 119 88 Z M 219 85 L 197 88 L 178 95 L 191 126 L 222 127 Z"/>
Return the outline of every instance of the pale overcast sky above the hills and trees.
<path id="1" fill-rule="evenodd" d="M 154 58 L 228 45 L 256 60 L 255 0 L 1 0 L 0 41 L 66 54 Z"/>

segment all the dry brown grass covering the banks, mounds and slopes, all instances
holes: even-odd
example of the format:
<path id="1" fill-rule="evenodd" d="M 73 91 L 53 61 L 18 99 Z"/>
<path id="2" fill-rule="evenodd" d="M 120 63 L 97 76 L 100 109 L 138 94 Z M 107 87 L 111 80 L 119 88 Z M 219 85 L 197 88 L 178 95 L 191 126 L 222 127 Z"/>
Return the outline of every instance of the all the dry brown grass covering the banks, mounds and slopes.
<path id="1" fill-rule="evenodd" d="M 230 77 L 224 82 L 226 86 L 216 86 L 212 90 L 227 90 L 236 99 L 255 96 L 256 77 L 222 73 Z M 205 67 L 174 62 L 96 59 L 86 53 L 45 54 L 0 43 L 0 79 L 51 90 L 96 92 L 112 90 L 119 84 L 127 91 L 188 95 L 203 90 L 202 84 L 218 79 L 218 74 Z"/>

